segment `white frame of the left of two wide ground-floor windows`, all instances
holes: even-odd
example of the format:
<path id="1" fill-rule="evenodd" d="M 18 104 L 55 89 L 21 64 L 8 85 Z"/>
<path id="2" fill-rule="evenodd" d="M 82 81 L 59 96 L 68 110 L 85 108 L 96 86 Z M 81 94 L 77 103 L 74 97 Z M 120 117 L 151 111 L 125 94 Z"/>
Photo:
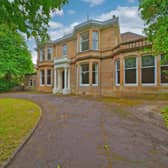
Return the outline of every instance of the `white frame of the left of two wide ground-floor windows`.
<path id="1" fill-rule="evenodd" d="M 127 58 L 135 58 L 136 59 L 136 83 L 125 83 L 125 59 Z M 128 56 L 124 58 L 124 86 L 138 86 L 138 57 L 137 56 Z M 135 69 L 135 68 L 129 68 L 129 69 Z M 128 69 L 127 69 L 128 70 Z"/>

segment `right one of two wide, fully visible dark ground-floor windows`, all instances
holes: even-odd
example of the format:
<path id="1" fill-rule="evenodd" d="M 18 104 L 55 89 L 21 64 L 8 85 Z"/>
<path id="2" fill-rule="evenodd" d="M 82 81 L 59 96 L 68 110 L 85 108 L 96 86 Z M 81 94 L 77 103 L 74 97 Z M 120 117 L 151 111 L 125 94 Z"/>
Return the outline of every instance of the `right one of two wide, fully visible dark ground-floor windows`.
<path id="1" fill-rule="evenodd" d="M 155 57 L 143 56 L 141 65 L 141 80 L 142 84 L 155 83 Z"/>

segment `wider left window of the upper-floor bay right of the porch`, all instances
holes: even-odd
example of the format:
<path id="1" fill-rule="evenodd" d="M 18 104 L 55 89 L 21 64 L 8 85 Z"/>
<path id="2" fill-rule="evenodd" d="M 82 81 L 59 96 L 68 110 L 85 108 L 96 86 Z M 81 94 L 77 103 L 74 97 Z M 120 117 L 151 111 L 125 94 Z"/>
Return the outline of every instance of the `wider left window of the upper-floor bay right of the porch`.
<path id="1" fill-rule="evenodd" d="M 80 35 L 80 52 L 89 50 L 89 32 Z"/>

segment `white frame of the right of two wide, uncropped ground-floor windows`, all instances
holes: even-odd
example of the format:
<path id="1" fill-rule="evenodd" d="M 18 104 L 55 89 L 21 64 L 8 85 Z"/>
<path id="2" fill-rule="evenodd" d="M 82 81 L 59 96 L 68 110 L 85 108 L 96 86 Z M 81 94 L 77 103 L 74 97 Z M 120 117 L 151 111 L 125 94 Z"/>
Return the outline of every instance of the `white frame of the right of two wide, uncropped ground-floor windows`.
<path id="1" fill-rule="evenodd" d="M 142 57 L 145 57 L 145 56 L 152 56 L 152 55 L 144 55 Z M 154 83 L 142 83 L 142 57 L 141 57 L 141 85 L 142 86 L 156 86 L 157 85 L 157 57 L 156 56 L 153 56 L 154 57 Z M 147 66 L 146 68 L 152 68 L 153 66 Z"/>

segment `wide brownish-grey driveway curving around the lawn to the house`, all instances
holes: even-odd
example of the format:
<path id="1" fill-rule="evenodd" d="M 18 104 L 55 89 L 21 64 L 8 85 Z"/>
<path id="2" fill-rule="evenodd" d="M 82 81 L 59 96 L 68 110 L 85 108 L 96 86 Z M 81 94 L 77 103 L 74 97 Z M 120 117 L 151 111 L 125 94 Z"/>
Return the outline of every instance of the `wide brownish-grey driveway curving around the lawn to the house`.
<path id="1" fill-rule="evenodd" d="M 116 107 L 77 96 L 1 97 L 26 98 L 42 107 L 39 126 L 8 168 L 168 167 L 168 131 L 129 111 L 123 115 Z"/>

